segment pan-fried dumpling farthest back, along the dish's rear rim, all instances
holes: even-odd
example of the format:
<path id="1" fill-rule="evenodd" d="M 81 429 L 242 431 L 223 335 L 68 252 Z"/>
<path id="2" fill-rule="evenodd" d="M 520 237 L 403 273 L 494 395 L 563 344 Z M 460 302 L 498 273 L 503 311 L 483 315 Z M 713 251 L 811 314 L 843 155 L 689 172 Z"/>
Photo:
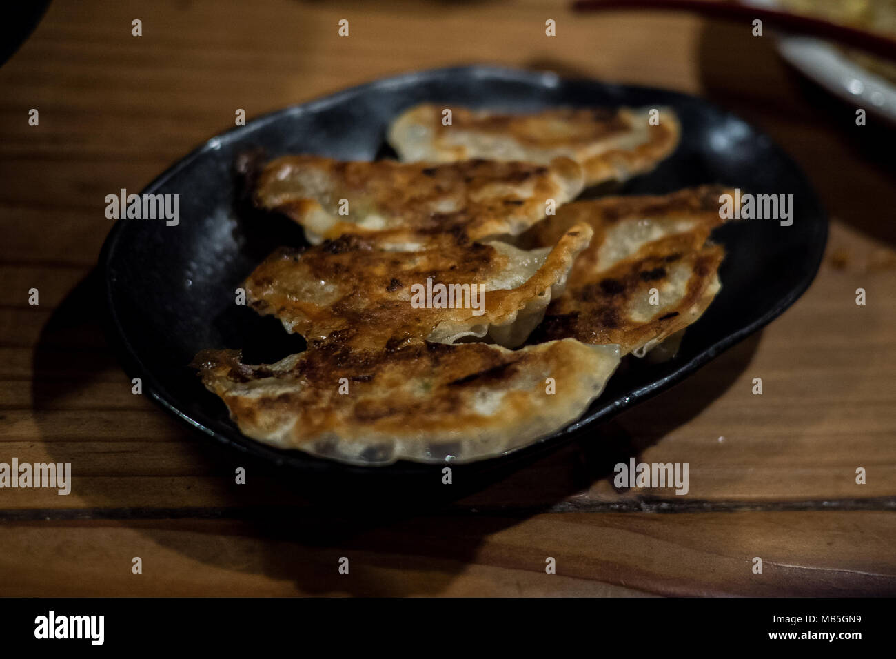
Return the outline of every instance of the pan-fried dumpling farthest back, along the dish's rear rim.
<path id="1" fill-rule="evenodd" d="M 405 110 L 389 129 L 401 160 L 452 162 L 470 158 L 547 164 L 558 156 L 584 169 L 585 185 L 624 181 L 675 151 L 681 129 L 671 108 L 554 108 L 534 114 L 499 114 L 424 103 Z"/>

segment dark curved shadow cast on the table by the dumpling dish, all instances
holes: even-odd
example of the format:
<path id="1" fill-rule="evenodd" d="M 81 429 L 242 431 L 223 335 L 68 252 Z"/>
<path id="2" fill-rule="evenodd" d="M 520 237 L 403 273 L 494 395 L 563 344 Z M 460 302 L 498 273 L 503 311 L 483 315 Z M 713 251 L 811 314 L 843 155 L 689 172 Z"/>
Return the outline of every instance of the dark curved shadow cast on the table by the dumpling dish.
<path id="1" fill-rule="evenodd" d="M 40 334 L 34 354 L 32 404 L 39 432 L 47 440 L 52 439 L 52 424 L 48 420 L 58 409 L 58 399 L 115 363 L 114 355 L 105 347 L 100 316 L 99 281 L 97 274 L 92 273 L 65 298 Z M 73 337 L 77 338 L 76 345 Z M 642 403 L 638 412 L 629 412 L 656 419 L 650 430 L 639 437 L 630 437 L 620 424 L 611 421 L 594 433 L 600 435 L 599 441 L 592 435 L 591 439 L 514 464 L 506 473 L 491 473 L 485 480 L 451 488 L 443 486 L 439 497 L 420 497 L 417 492 L 404 491 L 399 496 L 392 493 L 380 498 L 375 491 L 335 492 L 321 482 L 283 482 L 283 474 L 271 465 L 204 440 L 198 433 L 189 436 L 198 440 L 195 455 L 197 462 L 202 463 L 196 465 L 195 472 L 220 475 L 221 482 L 228 483 L 233 479 L 235 465 L 246 466 L 254 482 L 264 483 L 267 491 L 261 499 L 246 506 L 245 499 L 237 494 L 245 490 L 222 488 L 225 494 L 216 507 L 172 510 L 122 508 L 114 494 L 93 490 L 89 482 L 78 493 L 88 499 L 91 510 L 87 516 L 119 519 L 161 546 L 217 568 L 262 572 L 293 580 L 303 592 L 324 593 L 333 590 L 332 574 L 324 574 L 323 568 L 309 570 L 309 565 L 326 560 L 334 566 L 338 557 L 351 556 L 354 551 L 355 555 L 375 552 L 377 568 L 409 568 L 408 554 L 412 554 L 425 563 L 421 568 L 426 568 L 426 579 L 421 579 L 410 592 L 436 594 L 469 566 L 485 537 L 549 510 L 592 482 L 607 478 L 612 475 L 614 464 L 639 455 L 669 430 L 693 418 L 723 394 L 745 369 L 758 341 L 756 334 L 683 383 Z M 85 344 L 94 346 L 94 352 L 87 356 L 82 351 Z M 47 378 L 54 372 L 77 372 L 80 379 L 68 380 L 61 387 L 59 378 Z M 65 386 L 70 390 L 66 391 Z M 123 386 L 127 386 L 124 377 Z M 47 452 L 57 463 L 73 463 L 77 487 L 77 473 L 83 466 L 78 462 L 83 454 L 77 452 L 76 443 L 49 441 Z M 133 473 L 145 473 L 140 470 L 139 459 L 139 455 L 125 454 L 122 472 L 126 475 L 133 466 Z M 292 473 L 287 475 L 295 478 Z M 159 482 L 159 487 L 165 485 Z M 147 500 L 153 496 L 152 491 L 146 491 Z M 76 512 L 84 515 L 82 510 Z M 43 511 L 36 514 L 45 516 Z M 65 516 L 66 511 L 58 511 L 58 515 Z M 195 542 L 194 534 L 173 532 L 171 529 L 179 528 L 177 525 L 168 530 L 147 528 L 147 519 L 177 518 L 237 520 L 233 533 L 263 539 L 263 555 L 247 567 L 245 559 L 232 558 L 234 553 L 223 545 L 228 541 L 220 537 L 210 535 L 210 542 Z M 392 587 L 379 579 L 366 579 L 363 572 L 353 570 L 356 578 L 346 580 L 344 588 L 352 594 L 400 594 L 392 593 Z"/>

